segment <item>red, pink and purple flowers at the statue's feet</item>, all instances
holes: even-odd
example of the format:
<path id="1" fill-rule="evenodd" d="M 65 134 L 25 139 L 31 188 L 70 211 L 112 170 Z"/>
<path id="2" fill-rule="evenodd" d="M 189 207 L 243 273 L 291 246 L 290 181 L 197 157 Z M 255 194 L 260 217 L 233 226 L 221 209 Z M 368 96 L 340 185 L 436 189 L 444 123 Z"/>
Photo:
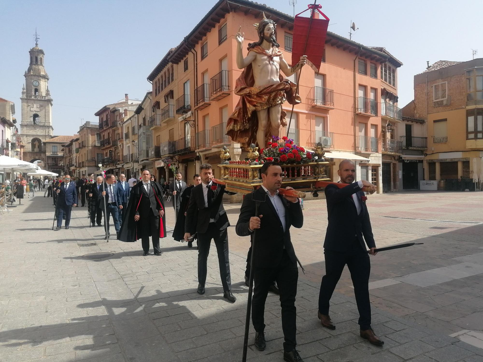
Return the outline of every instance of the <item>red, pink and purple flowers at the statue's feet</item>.
<path id="1" fill-rule="evenodd" d="M 298 146 L 293 139 L 287 137 L 279 138 L 272 136 L 270 142 L 267 143 L 267 147 L 262 148 L 260 151 L 260 158 L 262 162 L 270 162 L 278 160 L 282 165 L 285 164 L 304 164 L 312 162 L 313 154 L 301 146 Z"/>

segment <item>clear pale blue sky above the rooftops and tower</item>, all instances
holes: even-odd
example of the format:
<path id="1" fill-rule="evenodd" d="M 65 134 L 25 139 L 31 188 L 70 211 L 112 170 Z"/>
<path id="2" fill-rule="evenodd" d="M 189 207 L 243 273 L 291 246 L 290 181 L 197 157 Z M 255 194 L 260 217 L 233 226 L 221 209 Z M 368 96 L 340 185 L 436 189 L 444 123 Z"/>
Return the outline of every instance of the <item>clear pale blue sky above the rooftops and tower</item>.
<path id="1" fill-rule="evenodd" d="M 293 15 L 288 0 L 259 0 Z M 310 0 L 298 0 L 295 11 Z M 318 1 L 320 3 L 320 1 Z M 97 122 L 94 112 L 124 98 L 142 99 L 146 80 L 174 47 L 213 7 L 215 0 L 3 0 L 0 12 L 0 97 L 15 102 L 21 119 L 23 74 L 35 27 L 45 51 L 45 69 L 54 99 L 56 135 L 78 131 L 81 118 Z M 384 46 L 404 65 L 399 69 L 399 106 L 413 98 L 413 76 L 438 60 L 483 57 L 483 1 L 322 1 L 329 31 Z"/>

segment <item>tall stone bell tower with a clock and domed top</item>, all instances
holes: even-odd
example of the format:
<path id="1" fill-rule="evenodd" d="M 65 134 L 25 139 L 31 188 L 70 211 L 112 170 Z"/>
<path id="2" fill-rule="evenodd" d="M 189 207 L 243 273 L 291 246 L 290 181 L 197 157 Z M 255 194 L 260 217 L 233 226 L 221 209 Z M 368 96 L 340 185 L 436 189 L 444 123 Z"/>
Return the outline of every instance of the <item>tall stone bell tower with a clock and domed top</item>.
<path id="1" fill-rule="evenodd" d="M 28 51 L 29 65 L 24 73 L 22 87 L 22 119 L 20 133 L 26 151 L 44 153 L 43 142 L 52 138 L 52 98 L 49 92 L 49 76 L 44 68 L 45 53 L 39 48 L 39 37 L 35 30 L 35 46 Z M 33 156 L 33 155 L 32 155 Z"/>

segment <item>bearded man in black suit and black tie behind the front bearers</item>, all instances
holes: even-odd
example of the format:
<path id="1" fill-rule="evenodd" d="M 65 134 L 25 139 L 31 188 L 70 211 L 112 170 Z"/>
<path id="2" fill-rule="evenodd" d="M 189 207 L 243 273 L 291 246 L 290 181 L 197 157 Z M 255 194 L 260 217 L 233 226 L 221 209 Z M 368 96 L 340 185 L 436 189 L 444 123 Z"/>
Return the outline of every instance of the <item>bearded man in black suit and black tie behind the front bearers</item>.
<path id="1" fill-rule="evenodd" d="M 211 240 L 214 240 L 218 253 L 223 297 L 230 302 L 237 298 L 231 293 L 230 262 L 228 258 L 228 231 L 230 226 L 227 212 L 223 208 L 223 195 L 233 195 L 225 186 L 213 183 L 213 169 L 210 164 L 199 167 L 201 183 L 193 187 L 186 209 L 185 240 L 198 233 L 198 294 L 205 293 L 208 272 L 208 254 Z M 176 180 L 174 181 L 176 182 Z M 173 183 L 174 183 L 173 182 Z M 198 214 L 198 216 L 197 216 Z M 195 223 L 196 220 L 196 223 Z"/>

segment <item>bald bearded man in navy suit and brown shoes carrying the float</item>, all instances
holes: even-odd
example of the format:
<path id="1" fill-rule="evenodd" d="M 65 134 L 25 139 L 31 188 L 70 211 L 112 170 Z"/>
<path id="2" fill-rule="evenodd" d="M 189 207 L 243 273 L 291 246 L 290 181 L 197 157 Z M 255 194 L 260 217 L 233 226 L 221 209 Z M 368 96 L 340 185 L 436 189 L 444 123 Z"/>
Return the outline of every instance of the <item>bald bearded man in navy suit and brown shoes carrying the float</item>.
<path id="1" fill-rule="evenodd" d="M 364 196 L 364 191 L 374 193 L 376 187 L 366 180 L 354 182 L 355 164 L 351 160 L 342 161 L 337 173 L 341 182 L 348 185 L 342 188 L 329 185 L 325 190 L 328 218 L 324 242 L 326 275 L 320 285 L 317 315 L 324 327 L 335 329 L 329 316 L 329 300 L 347 264 L 354 283 L 360 336 L 376 346 L 382 346 L 384 342 L 370 326 L 370 261 L 366 249 L 367 244 L 369 254 L 377 253 Z"/>

